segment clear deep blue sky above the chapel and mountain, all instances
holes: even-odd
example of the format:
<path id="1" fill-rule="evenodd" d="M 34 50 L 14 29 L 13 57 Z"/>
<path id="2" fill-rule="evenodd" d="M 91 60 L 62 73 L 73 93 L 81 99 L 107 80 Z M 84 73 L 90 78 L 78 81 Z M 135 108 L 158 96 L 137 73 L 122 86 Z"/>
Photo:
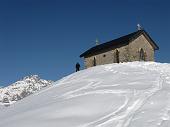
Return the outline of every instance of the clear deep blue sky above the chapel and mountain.
<path id="1" fill-rule="evenodd" d="M 137 23 L 159 45 L 156 61 L 170 62 L 169 0 L 1 0 L 0 85 L 30 74 L 57 80 L 82 65 L 96 38 L 115 39 Z"/>

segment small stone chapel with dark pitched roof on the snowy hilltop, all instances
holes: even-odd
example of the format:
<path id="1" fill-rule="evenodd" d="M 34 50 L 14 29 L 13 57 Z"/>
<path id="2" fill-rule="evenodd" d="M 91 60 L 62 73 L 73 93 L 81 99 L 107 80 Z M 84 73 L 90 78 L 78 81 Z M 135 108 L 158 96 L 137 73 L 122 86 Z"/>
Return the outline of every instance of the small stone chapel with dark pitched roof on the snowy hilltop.
<path id="1" fill-rule="evenodd" d="M 109 63 L 154 61 L 159 47 L 145 30 L 138 30 L 115 40 L 96 45 L 80 55 L 85 68 Z"/>

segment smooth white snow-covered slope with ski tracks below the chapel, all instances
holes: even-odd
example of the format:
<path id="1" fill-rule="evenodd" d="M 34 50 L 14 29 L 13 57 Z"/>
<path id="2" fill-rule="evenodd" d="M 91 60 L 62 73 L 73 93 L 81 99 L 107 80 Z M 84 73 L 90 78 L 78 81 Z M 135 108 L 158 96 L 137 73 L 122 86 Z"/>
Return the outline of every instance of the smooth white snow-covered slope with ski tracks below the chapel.
<path id="1" fill-rule="evenodd" d="M 170 64 L 108 64 L 73 73 L 0 107 L 0 127 L 170 127 Z"/>

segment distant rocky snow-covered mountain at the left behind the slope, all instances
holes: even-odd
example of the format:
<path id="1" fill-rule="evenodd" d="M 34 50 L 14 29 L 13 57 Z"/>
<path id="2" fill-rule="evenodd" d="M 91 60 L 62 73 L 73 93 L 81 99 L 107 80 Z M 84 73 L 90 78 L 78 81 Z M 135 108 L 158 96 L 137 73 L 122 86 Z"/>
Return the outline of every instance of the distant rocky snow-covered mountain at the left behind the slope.
<path id="1" fill-rule="evenodd" d="M 44 87 L 51 86 L 52 82 L 40 79 L 38 75 L 31 75 L 7 87 L 0 88 L 0 106 L 9 106 Z"/>

